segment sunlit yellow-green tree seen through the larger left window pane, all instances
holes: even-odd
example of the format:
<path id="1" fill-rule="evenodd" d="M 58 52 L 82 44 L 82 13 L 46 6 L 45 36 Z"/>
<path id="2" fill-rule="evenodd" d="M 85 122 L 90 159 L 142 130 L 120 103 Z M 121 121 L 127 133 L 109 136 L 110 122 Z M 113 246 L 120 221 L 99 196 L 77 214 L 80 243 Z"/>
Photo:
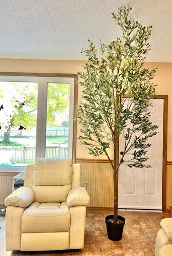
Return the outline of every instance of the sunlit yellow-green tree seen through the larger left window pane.
<path id="1" fill-rule="evenodd" d="M 4 109 L 0 113 L 1 125 L 5 129 L 3 142 L 10 142 L 12 127 L 23 125 L 33 127 L 35 125 L 36 90 L 35 84 L 30 87 L 24 82 L 1 82 L 0 96 Z"/>

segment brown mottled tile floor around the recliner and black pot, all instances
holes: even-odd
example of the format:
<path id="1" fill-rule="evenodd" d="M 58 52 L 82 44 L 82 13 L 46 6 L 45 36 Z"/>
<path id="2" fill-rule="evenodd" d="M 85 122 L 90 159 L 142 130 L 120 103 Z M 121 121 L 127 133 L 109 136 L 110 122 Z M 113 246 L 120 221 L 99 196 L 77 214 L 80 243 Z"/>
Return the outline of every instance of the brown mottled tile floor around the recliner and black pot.
<path id="1" fill-rule="evenodd" d="M 0 217 L 0 255 L 111 255 L 153 256 L 154 243 L 160 221 L 171 217 L 162 212 L 119 211 L 125 218 L 122 240 L 113 242 L 107 238 L 104 218 L 112 212 L 87 211 L 84 248 L 69 251 L 21 252 L 5 249 L 5 218 Z"/>

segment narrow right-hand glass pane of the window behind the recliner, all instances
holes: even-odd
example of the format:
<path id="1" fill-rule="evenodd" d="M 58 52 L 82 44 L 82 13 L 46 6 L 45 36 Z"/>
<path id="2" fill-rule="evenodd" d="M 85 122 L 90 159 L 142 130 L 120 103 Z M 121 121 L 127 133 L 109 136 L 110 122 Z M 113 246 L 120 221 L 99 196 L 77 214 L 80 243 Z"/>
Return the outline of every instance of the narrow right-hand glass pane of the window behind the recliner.
<path id="1" fill-rule="evenodd" d="M 46 158 L 67 158 L 69 147 L 70 84 L 48 83 Z"/>

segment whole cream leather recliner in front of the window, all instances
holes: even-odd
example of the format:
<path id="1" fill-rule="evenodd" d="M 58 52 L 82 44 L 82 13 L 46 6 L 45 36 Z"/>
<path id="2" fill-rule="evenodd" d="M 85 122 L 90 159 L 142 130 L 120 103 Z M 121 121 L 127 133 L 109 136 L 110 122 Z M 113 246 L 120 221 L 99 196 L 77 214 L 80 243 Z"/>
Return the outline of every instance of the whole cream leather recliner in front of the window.
<path id="1" fill-rule="evenodd" d="M 24 187 L 5 199 L 7 250 L 83 248 L 90 198 L 79 173 L 71 159 L 37 159 L 27 166 Z"/>

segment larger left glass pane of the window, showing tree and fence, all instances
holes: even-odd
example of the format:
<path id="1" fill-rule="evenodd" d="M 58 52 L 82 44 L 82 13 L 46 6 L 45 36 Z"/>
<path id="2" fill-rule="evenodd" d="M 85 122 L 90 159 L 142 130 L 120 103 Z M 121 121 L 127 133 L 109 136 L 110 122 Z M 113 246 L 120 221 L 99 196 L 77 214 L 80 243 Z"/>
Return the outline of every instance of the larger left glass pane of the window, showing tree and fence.
<path id="1" fill-rule="evenodd" d="M 0 165 L 35 161 L 37 83 L 0 81 Z"/>

